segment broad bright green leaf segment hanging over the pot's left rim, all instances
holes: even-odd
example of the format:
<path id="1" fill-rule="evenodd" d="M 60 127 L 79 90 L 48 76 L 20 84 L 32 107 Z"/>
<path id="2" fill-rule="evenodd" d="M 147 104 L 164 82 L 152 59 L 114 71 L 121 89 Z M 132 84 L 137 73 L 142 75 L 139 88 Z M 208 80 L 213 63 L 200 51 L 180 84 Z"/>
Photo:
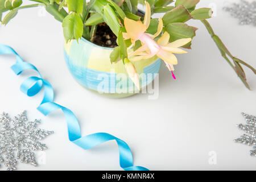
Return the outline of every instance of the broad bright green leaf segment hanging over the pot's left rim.
<path id="1" fill-rule="evenodd" d="M 79 15 L 75 12 L 72 12 L 66 16 L 62 23 L 63 33 L 66 42 L 72 39 L 80 39 L 83 31 L 82 20 Z"/>

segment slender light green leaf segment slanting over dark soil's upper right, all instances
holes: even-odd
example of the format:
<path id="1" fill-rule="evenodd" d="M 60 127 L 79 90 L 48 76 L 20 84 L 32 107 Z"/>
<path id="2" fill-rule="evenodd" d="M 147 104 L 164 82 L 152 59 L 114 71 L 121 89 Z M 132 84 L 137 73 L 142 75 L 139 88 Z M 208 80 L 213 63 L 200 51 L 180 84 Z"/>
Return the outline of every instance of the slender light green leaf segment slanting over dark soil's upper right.
<path id="1" fill-rule="evenodd" d="M 109 4 L 104 6 L 103 14 L 103 18 L 106 24 L 108 24 L 109 28 L 113 31 L 115 35 L 118 35 L 121 26 L 119 24 L 117 15 L 115 15 L 114 10 L 112 9 L 112 7 L 110 7 Z"/>

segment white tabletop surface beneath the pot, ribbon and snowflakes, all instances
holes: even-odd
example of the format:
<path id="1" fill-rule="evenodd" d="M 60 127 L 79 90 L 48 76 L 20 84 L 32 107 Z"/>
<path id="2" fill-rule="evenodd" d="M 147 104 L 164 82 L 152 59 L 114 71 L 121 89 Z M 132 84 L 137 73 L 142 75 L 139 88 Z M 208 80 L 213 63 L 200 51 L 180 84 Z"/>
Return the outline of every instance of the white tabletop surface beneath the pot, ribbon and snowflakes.
<path id="1" fill-rule="evenodd" d="M 215 3 L 217 16 L 209 20 L 214 31 L 233 55 L 256 67 L 256 29 L 238 26 L 237 19 L 222 10 L 226 2 L 232 1 L 204 0 L 198 7 Z M 148 100 L 147 94 L 116 100 L 91 93 L 73 80 L 63 58 L 61 24 L 51 15 L 39 15 L 40 8 L 19 11 L 6 27 L 0 27 L 0 43 L 13 47 L 51 82 L 55 101 L 76 114 L 83 135 L 106 132 L 125 140 L 133 151 L 134 164 L 151 170 L 255 169 L 251 147 L 233 139 L 242 134 L 235 126 L 245 123 L 241 111 L 256 115 L 256 77 L 245 68 L 252 91 L 247 90 L 201 22 L 188 22 L 199 30 L 192 50 L 177 55 L 177 80 L 162 65 L 157 100 Z M 30 119 L 41 118 L 43 128 L 55 131 L 44 140 L 49 147 L 46 164 L 20 164 L 19 169 L 121 169 L 115 142 L 82 150 L 69 142 L 60 111 L 44 117 L 36 110 L 43 92 L 32 98 L 20 92 L 20 84 L 31 73 L 15 76 L 10 69 L 14 61 L 13 56 L 0 56 L 0 111 L 14 115 L 26 109 Z M 210 151 L 216 152 L 216 165 L 208 163 Z"/>

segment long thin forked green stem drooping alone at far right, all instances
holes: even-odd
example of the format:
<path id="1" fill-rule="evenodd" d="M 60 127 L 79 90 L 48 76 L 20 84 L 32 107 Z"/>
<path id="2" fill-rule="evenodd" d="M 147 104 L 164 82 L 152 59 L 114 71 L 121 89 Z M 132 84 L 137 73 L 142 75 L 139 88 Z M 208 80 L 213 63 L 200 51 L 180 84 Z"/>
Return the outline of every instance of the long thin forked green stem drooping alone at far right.
<path id="1" fill-rule="evenodd" d="M 214 34 L 214 31 L 213 31 L 212 27 L 210 26 L 210 24 L 207 20 L 204 19 L 204 20 L 201 20 L 201 22 L 207 28 L 210 36 L 212 37 L 212 39 L 216 43 L 218 49 L 221 52 L 222 57 L 224 57 L 224 59 L 228 62 L 228 64 L 234 69 L 234 71 L 237 73 L 237 76 L 241 79 L 241 81 L 246 86 L 246 88 L 250 90 L 250 86 L 246 82 L 245 72 L 243 71 L 240 63 L 245 65 L 246 67 L 250 68 L 254 72 L 254 74 L 256 74 L 256 70 L 253 67 L 251 67 L 251 65 L 245 63 L 244 61 L 238 59 L 237 57 L 234 57 L 229 52 L 229 50 L 226 48 L 224 43 L 222 43 L 221 39 L 216 34 Z M 230 57 L 231 60 L 228 58 L 227 55 Z M 232 63 L 232 61 L 233 61 L 234 64 Z"/>

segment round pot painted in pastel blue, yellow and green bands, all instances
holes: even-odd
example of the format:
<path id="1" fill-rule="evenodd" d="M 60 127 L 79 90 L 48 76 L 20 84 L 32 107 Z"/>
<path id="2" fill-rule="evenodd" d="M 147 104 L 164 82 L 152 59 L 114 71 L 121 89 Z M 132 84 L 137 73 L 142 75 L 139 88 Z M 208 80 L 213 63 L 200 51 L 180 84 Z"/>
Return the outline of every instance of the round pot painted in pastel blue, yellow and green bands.
<path id="1" fill-rule="evenodd" d="M 113 48 L 97 46 L 84 38 L 64 43 L 65 61 L 79 84 L 108 97 L 121 98 L 138 93 L 122 61 L 110 63 L 112 51 Z M 161 62 L 158 57 L 152 57 L 133 64 L 143 89 L 154 80 Z"/>

